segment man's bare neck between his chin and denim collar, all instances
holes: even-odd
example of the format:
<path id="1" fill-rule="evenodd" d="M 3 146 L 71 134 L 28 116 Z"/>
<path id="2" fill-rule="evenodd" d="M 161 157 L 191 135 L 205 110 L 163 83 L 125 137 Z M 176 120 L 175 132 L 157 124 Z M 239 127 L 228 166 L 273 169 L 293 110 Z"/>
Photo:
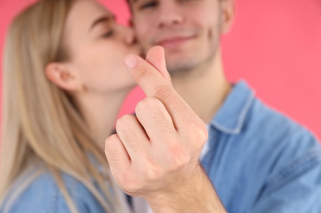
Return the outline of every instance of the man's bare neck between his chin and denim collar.
<path id="1" fill-rule="evenodd" d="M 184 76 L 172 76 L 172 83 L 205 123 L 211 121 L 232 88 L 225 78 L 220 54 Z"/>

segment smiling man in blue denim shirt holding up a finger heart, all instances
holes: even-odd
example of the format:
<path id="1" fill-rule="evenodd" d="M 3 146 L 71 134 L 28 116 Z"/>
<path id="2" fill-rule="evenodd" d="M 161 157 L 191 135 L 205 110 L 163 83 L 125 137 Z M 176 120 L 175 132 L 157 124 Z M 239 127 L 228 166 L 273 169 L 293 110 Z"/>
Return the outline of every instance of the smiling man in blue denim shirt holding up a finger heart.
<path id="1" fill-rule="evenodd" d="M 192 128 L 187 124 L 197 123 L 196 117 L 191 115 L 188 107 L 183 102 L 175 101 L 179 98 L 170 86 L 167 84 L 164 86 L 165 83 L 161 78 L 158 79 L 160 83 L 157 83 L 156 78 L 152 77 L 153 74 L 147 72 L 148 69 L 153 69 L 151 66 L 153 65 L 167 79 L 164 74 L 166 68 L 164 68 L 165 62 L 162 61 L 161 51 L 152 49 L 146 58 L 151 65 L 139 58 L 138 63 L 132 63 L 134 65 L 131 67 L 134 68 L 130 68 L 149 99 L 140 107 L 138 106 L 138 109 L 136 108 L 136 120 L 125 117 L 122 122 L 119 122 L 117 133 L 119 141 L 124 144 L 127 151 L 128 144 L 131 144 L 139 150 L 136 153 L 141 153 L 136 157 L 139 160 L 134 157 L 134 161 L 139 162 L 133 161 L 133 164 L 136 164 L 135 169 L 139 170 L 138 165 L 149 162 L 148 165 L 156 164 L 152 167 L 152 171 L 156 172 L 152 172 L 150 176 L 146 174 L 144 176 L 142 170 L 139 170 L 141 171 L 139 174 L 132 171 L 117 171 L 115 175 L 113 172 L 115 169 L 112 169 L 116 181 L 123 190 L 130 195 L 145 198 L 154 212 L 321 212 L 321 204 L 318 202 L 321 195 L 321 149 L 317 139 L 303 127 L 257 100 L 246 82 L 241 81 L 231 85 L 224 75 L 220 36 L 230 30 L 234 18 L 234 1 L 130 0 L 129 4 L 138 42 L 142 44 L 146 53 L 152 46 L 163 46 L 166 67 L 170 73 L 173 88 L 207 124 L 209 137 L 202 151 L 201 162 L 215 188 L 210 187 L 208 180 L 204 177 L 203 183 L 199 181 L 202 179 L 198 178 L 202 177 L 202 172 L 191 175 L 198 182 L 195 181 L 195 184 L 186 186 L 186 188 L 196 189 L 194 197 L 191 196 L 193 190 L 184 191 L 179 179 L 173 178 L 173 182 L 177 184 L 175 188 L 175 185 L 169 184 L 170 178 L 164 178 L 172 177 L 171 172 L 174 169 L 166 173 L 164 172 L 166 168 L 174 168 L 171 166 L 176 165 L 174 171 L 178 172 L 175 174 L 180 175 L 174 175 L 174 177 L 183 177 L 182 170 L 190 168 L 189 165 L 197 168 L 195 162 L 185 160 L 181 164 L 170 163 L 170 160 L 166 161 L 168 156 L 164 152 L 160 156 L 164 157 L 167 165 L 163 165 L 162 168 L 161 163 L 156 163 L 161 158 L 158 158 L 158 161 L 154 160 L 154 156 L 159 157 L 155 149 L 137 148 L 138 141 L 141 141 L 138 138 L 149 137 L 152 135 L 150 132 L 161 132 L 155 127 L 153 131 L 148 130 L 149 126 L 153 127 L 155 123 L 166 123 L 165 126 L 170 126 L 169 123 L 164 122 L 166 119 L 163 119 L 168 114 L 167 120 L 172 119 L 177 132 L 182 132 L 184 128 L 191 130 Z M 130 62 L 137 58 L 127 59 L 130 59 L 127 61 Z M 148 82 L 153 85 L 147 86 Z M 160 100 L 161 106 L 157 101 L 151 101 L 150 97 Z M 169 100 L 174 102 L 174 106 L 171 106 Z M 162 112 L 148 116 L 146 106 L 149 106 L 150 111 L 158 109 Z M 186 113 L 185 117 L 184 113 Z M 190 121 L 189 116 L 192 116 Z M 146 117 L 150 118 L 150 123 L 146 122 Z M 124 125 L 125 121 L 131 122 Z M 179 121 L 184 122 L 177 124 Z M 132 128 L 135 126 L 139 126 L 136 128 L 137 132 L 146 130 L 146 135 L 137 136 L 128 130 L 135 129 Z M 198 127 L 195 129 L 202 130 L 201 125 Z M 166 131 L 170 132 L 168 129 Z M 184 134 L 192 137 L 196 133 L 185 131 Z M 175 150 L 179 153 L 182 153 L 182 150 L 188 150 L 188 146 L 179 148 L 176 146 L 178 141 L 184 144 L 182 142 L 186 139 L 182 136 L 184 134 L 178 134 L 180 137 L 174 143 Z M 135 136 L 131 137 L 132 135 Z M 151 136 L 152 144 L 156 141 L 152 139 L 153 137 L 156 136 Z M 168 139 L 158 134 L 158 138 L 172 141 L 177 137 L 171 136 Z M 183 153 L 191 156 L 190 159 L 194 159 L 199 155 L 197 148 L 202 144 L 195 145 L 195 140 L 203 139 L 199 136 L 189 140 L 188 145 L 196 149 L 194 152 L 188 150 L 187 154 Z M 163 143 L 163 140 L 159 139 L 155 143 Z M 109 142 L 107 140 L 106 144 L 108 145 Z M 166 151 L 168 150 L 170 149 Z M 149 152 L 154 155 L 149 154 L 146 157 L 146 153 Z M 108 157 L 108 153 L 106 155 Z M 175 156 L 175 152 L 169 152 L 168 155 Z M 130 151 L 128 156 L 129 158 L 132 156 Z M 116 165 L 120 167 L 123 164 L 115 163 L 114 167 Z M 127 177 L 129 175 L 131 178 Z M 149 177 L 148 184 L 142 184 L 144 180 L 142 176 Z M 139 177 L 140 181 L 137 181 L 136 177 Z M 193 182 L 188 179 L 184 181 Z M 139 184 L 134 187 L 135 184 L 128 184 L 130 182 Z M 154 188 L 155 185 L 157 187 Z M 164 185 L 170 188 L 166 193 L 162 191 Z M 208 190 L 203 191 L 202 194 L 206 186 Z M 200 188 L 202 190 L 199 190 Z M 172 196 L 175 193 L 170 194 L 170 191 L 175 192 L 177 196 Z M 173 200 L 168 204 L 170 209 L 168 211 L 161 207 L 167 195 Z M 209 197 L 211 199 L 208 199 Z M 206 208 L 207 204 L 212 206 Z"/>

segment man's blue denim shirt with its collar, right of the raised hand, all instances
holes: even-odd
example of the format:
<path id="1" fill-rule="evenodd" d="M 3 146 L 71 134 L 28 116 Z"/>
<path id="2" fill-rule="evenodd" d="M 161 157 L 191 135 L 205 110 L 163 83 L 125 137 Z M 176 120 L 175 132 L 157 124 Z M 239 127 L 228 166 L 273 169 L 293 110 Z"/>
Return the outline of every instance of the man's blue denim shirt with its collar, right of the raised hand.
<path id="1" fill-rule="evenodd" d="M 321 148 L 304 127 L 234 85 L 202 164 L 229 213 L 320 213 Z"/>

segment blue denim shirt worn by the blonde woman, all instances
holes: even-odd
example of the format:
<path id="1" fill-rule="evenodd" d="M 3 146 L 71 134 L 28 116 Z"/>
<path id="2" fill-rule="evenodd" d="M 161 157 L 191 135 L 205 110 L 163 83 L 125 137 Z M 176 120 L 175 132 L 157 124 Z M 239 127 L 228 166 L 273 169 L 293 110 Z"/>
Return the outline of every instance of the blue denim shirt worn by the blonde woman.
<path id="1" fill-rule="evenodd" d="M 24 174 L 16 181 L 11 193 L 7 196 L 1 213 L 70 213 L 67 202 L 50 172 L 44 172 L 34 179 L 16 199 L 11 196 L 17 193 L 20 184 L 29 174 Z M 79 213 L 105 212 L 88 188 L 71 176 L 63 175 L 63 181 Z"/>

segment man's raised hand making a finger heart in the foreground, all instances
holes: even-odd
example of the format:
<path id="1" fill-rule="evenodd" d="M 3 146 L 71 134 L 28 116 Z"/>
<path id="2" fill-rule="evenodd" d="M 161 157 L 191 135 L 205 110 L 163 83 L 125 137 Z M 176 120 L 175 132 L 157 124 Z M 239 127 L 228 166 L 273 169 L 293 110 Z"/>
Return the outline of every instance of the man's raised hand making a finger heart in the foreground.
<path id="1" fill-rule="evenodd" d="M 111 172 L 127 194 L 145 198 L 154 212 L 180 212 L 191 195 L 209 188 L 215 193 L 198 162 L 206 126 L 174 90 L 162 47 L 152 48 L 146 60 L 129 55 L 125 64 L 147 98 L 137 104 L 136 116 L 121 117 L 117 134 L 106 139 Z"/>

